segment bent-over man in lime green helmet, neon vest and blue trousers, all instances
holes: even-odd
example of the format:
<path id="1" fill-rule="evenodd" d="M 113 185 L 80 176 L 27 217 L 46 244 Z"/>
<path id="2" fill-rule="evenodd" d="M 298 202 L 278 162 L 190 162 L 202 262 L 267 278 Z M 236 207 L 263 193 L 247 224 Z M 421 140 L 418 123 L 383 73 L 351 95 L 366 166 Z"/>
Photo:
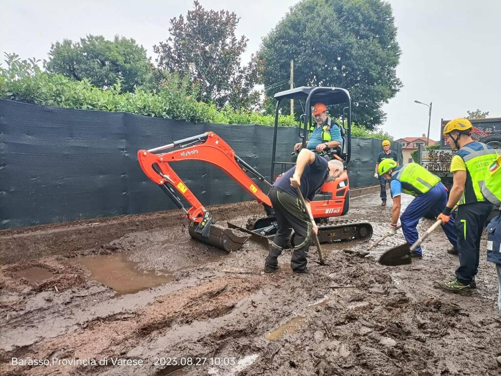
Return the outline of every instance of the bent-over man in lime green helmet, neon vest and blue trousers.
<path id="1" fill-rule="evenodd" d="M 390 181 L 391 198 L 393 208 L 391 216 L 389 235 L 395 235 L 397 230 L 398 217 L 400 215 L 400 195 L 405 193 L 414 196 L 415 199 L 407 206 L 407 209 L 400 217 L 402 232 L 405 240 L 409 244 L 416 243 L 419 238 L 416 226 L 423 216 L 430 212 L 434 217 L 438 216 L 447 204 L 447 190 L 435 176 L 417 163 L 408 163 L 398 166 L 393 159 L 383 159 L 378 166 L 379 176 L 384 176 Z M 452 222 L 452 223 L 451 223 Z M 457 236 L 454 229 L 454 220 L 441 225 L 449 239 L 450 244 L 456 249 Z M 421 247 L 417 247 L 412 253 L 412 257 L 422 258 Z"/>

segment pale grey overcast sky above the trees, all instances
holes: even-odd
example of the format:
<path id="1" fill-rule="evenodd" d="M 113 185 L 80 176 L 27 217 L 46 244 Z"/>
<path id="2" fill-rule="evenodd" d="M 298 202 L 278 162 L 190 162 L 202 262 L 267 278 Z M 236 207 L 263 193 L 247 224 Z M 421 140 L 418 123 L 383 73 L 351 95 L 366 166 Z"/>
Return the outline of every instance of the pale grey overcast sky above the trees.
<path id="1" fill-rule="evenodd" d="M 86 34 L 134 38 L 153 58 L 152 46 L 167 37 L 169 20 L 192 8 L 188 1 L 2 0 L 0 52 L 47 59 L 51 43 Z M 295 0 L 199 0 L 206 9 L 226 9 L 241 19 L 237 34 L 248 39 L 244 59 L 285 16 Z M 428 126 L 439 137 L 440 119 L 466 110 L 501 117 L 501 0 L 391 0 L 402 50 L 397 76 L 403 88 L 384 106 L 383 129 L 396 138 L 420 136 Z M 354 109 L 356 110 L 356 109 Z"/>

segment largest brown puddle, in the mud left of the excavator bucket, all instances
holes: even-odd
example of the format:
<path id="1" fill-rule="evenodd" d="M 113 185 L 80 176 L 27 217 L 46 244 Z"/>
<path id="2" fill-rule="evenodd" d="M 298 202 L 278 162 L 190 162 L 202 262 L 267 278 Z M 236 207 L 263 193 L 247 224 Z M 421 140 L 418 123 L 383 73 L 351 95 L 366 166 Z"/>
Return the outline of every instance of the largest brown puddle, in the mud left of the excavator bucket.
<path id="1" fill-rule="evenodd" d="M 172 274 L 156 270 L 139 270 L 138 262 L 128 261 L 126 255 L 79 256 L 74 263 L 91 272 L 88 279 L 111 287 L 118 295 L 133 294 L 150 287 L 171 282 Z"/>

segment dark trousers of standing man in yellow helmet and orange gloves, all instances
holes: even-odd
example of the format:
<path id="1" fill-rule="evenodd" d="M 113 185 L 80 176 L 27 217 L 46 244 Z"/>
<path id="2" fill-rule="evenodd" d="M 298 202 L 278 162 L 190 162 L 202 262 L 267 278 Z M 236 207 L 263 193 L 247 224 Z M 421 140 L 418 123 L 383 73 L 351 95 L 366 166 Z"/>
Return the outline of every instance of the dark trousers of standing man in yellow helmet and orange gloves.
<path id="1" fill-rule="evenodd" d="M 459 268 L 456 269 L 456 277 L 463 284 L 469 284 L 478 272 L 480 237 L 491 210 L 492 205 L 486 202 L 459 205 L 457 209 L 454 227 Z"/>

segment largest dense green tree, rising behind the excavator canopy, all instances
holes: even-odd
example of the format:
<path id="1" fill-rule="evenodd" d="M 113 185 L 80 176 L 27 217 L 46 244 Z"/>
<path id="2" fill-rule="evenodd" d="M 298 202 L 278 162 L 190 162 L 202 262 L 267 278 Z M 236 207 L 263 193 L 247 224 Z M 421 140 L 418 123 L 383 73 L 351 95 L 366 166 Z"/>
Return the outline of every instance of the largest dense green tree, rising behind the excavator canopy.
<path id="1" fill-rule="evenodd" d="M 381 107 L 402 86 L 396 76 L 400 47 L 393 21 L 391 6 L 381 0 L 296 4 L 263 40 L 259 58 L 265 87 L 287 80 L 294 60 L 295 86 L 346 88 L 353 119 L 370 128 L 381 124 L 386 117 Z M 286 81 L 267 95 L 288 86 Z"/>

